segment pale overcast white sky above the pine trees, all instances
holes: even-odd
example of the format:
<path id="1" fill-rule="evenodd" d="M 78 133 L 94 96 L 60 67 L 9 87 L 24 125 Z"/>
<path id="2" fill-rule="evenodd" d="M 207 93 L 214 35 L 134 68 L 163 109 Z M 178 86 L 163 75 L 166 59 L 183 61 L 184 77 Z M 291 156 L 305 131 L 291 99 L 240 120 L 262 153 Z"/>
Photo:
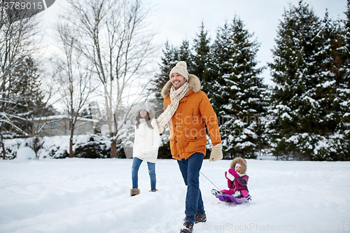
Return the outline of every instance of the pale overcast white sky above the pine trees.
<path id="1" fill-rule="evenodd" d="M 282 20 L 283 9 L 288 8 L 288 3 L 297 6 L 299 0 L 150 0 L 154 4 L 151 17 L 152 26 L 158 30 L 155 41 L 164 47 L 168 40 L 171 45 L 181 45 L 183 39 L 190 42 L 199 32 L 199 27 L 204 22 L 204 27 L 209 31 L 211 42 L 216 37 L 216 30 L 222 27 L 225 20 L 232 20 L 237 15 L 246 24 L 249 33 L 254 34 L 260 43 L 257 55 L 259 66 L 265 66 L 272 62 L 271 49 L 274 47 L 276 29 L 279 20 Z M 55 13 L 58 13 L 60 5 L 65 0 L 57 0 L 48 10 L 41 14 L 48 22 L 54 21 Z M 345 18 L 346 0 L 307 0 L 318 15 L 323 18 L 325 9 L 328 9 L 329 17 L 333 19 Z M 161 56 L 162 53 L 160 52 Z M 160 56 L 157 59 L 160 59 Z M 265 83 L 272 85 L 269 70 L 262 73 Z"/>

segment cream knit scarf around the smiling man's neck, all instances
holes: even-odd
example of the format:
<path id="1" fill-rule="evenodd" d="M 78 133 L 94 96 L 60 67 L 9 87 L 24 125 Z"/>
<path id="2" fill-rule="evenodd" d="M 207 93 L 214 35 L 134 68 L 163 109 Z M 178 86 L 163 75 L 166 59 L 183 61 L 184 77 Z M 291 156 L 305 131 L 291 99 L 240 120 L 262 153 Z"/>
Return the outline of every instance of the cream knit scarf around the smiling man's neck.
<path id="1" fill-rule="evenodd" d="M 158 119 L 154 119 L 151 122 L 151 125 L 155 128 L 158 134 L 163 132 L 165 125 L 167 125 L 167 122 L 169 122 L 176 109 L 179 107 L 180 100 L 186 96 L 189 90 L 190 85 L 188 82 L 184 83 L 178 90 L 172 86 L 170 89 L 170 100 L 172 103 L 167 107 L 167 109 L 165 109 L 164 113 L 162 113 Z"/>

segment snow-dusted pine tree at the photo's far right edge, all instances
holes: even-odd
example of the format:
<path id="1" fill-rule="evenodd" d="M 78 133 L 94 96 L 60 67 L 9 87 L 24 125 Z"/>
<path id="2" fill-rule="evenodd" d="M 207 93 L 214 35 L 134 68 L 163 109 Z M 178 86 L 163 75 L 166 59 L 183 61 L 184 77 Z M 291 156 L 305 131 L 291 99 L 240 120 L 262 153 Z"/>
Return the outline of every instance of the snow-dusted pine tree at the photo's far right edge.
<path id="1" fill-rule="evenodd" d="M 348 99 L 345 100 L 344 95 L 337 92 L 337 90 L 344 90 L 343 69 L 346 50 L 342 48 L 343 28 L 339 20 L 334 21 L 328 18 L 328 12 L 325 13 L 322 27 L 320 35 L 323 39 L 323 49 L 319 55 L 323 59 L 323 64 L 319 75 L 320 83 L 316 85 L 314 94 L 314 99 L 320 105 L 320 130 L 314 155 L 311 155 L 310 159 L 336 161 L 345 160 L 345 157 L 348 157 L 349 160 L 349 153 L 346 153 L 345 150 L 349 142 L 344 140 L 346 130 L 344 126 L 346 125 L 342 122 L 344 115 L 342 105 L 344 104 L 341 104 Z M 349 54 L 349 51 L 347 53 Z"/>

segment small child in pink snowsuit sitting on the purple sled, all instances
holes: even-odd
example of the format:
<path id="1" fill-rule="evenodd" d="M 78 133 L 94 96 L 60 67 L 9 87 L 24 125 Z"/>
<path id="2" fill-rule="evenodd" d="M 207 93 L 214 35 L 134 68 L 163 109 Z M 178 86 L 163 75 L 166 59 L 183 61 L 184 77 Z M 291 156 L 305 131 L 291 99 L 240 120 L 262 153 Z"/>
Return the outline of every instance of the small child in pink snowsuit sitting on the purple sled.
<path id="1" fill-rule="evenodd" d="M 212 190 L 214 195 L 228 194 L 234 197 L 248 197 L 248 176 L 246 175 L 246 160 L 237 157 L 232 160 L 230 169 L 225 171 L 225 177 L 228 179 L 229 190 Z"/>

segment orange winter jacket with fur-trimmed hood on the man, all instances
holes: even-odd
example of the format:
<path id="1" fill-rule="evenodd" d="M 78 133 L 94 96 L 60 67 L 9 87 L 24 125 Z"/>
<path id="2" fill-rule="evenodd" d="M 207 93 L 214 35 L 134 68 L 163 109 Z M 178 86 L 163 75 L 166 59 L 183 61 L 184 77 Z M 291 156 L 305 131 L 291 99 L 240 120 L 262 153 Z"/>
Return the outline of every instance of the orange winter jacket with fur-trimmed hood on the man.
<path id="1" fill-rule="evenodd" d="M 179 102 L 179 107 L 169 120 L 170 149 L 172 157 L 176 160 L 188 159 L 194 153 L 207 151 L 207 133 L 209 131 L 211 143 L 215 146 L 221 143 L 218 118 L 211 106 L 207 94 L 200 90 L 200 79 L 192 74 L 189 75 L 188 83 L 190 91 Z M 163 87 L 164 110 L 172 103 L 169 97 L 171 81 Z"/>

